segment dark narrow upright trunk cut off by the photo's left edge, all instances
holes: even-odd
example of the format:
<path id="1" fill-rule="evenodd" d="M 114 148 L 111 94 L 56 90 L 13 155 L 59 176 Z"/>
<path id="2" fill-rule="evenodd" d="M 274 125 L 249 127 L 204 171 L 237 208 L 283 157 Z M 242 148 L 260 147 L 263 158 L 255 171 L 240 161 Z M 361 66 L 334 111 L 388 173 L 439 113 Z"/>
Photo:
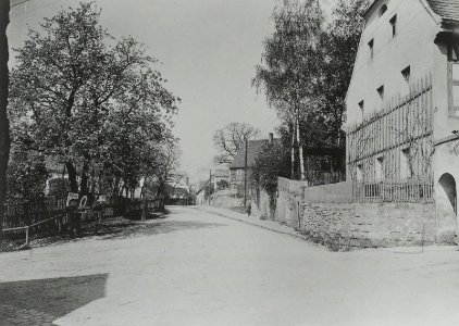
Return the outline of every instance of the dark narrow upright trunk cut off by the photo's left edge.
<path id="1" fill-rule="evenodd" d="M 7 197 L 7 170 L 10 159 L 10 123 L 8 121 L 8 37 L 10 23 L 10 0 L 0 1 L 0 243 L 3 237 L 4 200 Z"/>

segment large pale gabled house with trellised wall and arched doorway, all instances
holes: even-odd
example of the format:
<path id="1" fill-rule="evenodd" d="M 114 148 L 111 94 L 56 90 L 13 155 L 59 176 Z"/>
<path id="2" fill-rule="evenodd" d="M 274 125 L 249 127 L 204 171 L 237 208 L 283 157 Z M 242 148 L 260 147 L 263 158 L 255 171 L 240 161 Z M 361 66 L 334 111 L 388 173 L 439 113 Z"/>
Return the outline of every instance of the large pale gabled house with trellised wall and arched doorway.
<path id="1" fill-rule="evenodd" d="M 370 202 L 435 202 L 457 235 L 459 1 L 376 0 L 347 99 L 347 177 Z"/>

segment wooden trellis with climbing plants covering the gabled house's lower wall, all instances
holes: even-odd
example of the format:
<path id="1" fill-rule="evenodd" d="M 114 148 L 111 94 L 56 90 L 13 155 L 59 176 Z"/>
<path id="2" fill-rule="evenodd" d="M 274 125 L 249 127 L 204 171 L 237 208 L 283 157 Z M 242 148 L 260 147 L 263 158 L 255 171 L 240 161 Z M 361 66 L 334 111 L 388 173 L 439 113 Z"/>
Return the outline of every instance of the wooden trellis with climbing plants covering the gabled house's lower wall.
<path id="1" fill-rule="evenodd" d="M 433 201 L 432 77 L 347 130 L 348 176 L 358 202 Z"/>

